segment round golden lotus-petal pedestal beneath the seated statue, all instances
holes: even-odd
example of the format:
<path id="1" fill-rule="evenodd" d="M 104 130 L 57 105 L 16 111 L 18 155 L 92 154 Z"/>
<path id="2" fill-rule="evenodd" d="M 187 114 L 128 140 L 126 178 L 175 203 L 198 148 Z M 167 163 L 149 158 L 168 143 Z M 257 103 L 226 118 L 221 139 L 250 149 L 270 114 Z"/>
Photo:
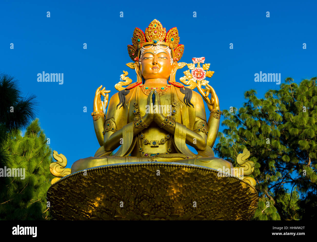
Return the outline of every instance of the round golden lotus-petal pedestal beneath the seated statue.
<path id="1" fill-rule="evenodd" d="M 103 165 L 47 192 L 56 220 L 250 220 L 258 194 L 238 177 L 182 163 Z"/>

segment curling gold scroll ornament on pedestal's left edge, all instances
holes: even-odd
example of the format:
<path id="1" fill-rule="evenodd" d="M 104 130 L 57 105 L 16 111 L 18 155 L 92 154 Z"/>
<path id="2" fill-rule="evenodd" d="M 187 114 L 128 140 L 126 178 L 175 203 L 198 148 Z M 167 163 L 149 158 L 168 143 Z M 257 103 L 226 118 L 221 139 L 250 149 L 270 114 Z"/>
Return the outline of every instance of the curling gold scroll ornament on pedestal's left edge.
<path id="1" fill-rule="evenodd" d="M 58 154 L 57 151 L 53 151 L 53 157 L 56 162 L 52 162 L 49 165 L 49 171 L 53 176 L 55 176 L 55 178 L 52 179 L 51 184 L 61 179 L 60 177 L 65 177 L 71 173 L 70 168 L 65 168 L 67 165 L 67 159 L 63 154 Z"/>

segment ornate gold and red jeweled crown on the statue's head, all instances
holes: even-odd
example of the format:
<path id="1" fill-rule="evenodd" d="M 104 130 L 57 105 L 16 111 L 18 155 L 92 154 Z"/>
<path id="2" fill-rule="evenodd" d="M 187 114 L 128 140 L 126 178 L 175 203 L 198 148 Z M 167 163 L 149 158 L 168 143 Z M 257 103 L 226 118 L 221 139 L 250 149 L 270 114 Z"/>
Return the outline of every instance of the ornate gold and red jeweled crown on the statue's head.
<path id="1" fill-rule="evenodd" d="M 167 33 L 162 24 L 154 19 L 144 32 L 135 28 L 133 31 L 132 44 L 128 45 L 128 53 L 133 61 L 139 61 L 139 52 L 146 45 L 164 45 L 171 49 L 173 61 L 178 61 L 184 53 L 184 45 L 180 45 L 178 30 L 176 27 L 171 28 Z"/>

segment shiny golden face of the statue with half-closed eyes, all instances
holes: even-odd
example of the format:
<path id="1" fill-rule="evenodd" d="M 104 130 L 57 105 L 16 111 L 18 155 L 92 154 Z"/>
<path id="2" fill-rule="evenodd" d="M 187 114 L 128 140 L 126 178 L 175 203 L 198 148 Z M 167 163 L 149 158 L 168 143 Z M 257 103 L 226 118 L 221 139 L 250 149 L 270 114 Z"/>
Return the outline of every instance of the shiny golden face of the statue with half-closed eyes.
<path id="1" fill-rule="evenodd" d="M 141 74 L 145 80 L 152 78 L 168 79 L 172 72 L 170 54 L 166 50 L 152 48 L 141 57 Z"/>

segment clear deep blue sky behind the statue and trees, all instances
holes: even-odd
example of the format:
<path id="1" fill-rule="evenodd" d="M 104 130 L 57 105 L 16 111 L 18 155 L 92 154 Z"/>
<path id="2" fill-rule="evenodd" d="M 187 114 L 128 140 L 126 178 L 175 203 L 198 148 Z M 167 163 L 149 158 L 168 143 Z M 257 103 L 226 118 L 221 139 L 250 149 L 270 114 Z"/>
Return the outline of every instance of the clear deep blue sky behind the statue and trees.
<path id="1" fill-rule="evenodd" d="M 136 80 L 125 65 L 135 27 L 145 31 L 153 19 L 167 30 L 177 27 L 185 46 L 181 61 L 205 57 L 215 71 L 209 81 L 220 108 L 239 108 L 246 90 L 256 89 L 261 98 L 279 89 L 255 82 L 255 73 L 281 73 L 282 82 L 292 77 L 297 83 L 317 75 L 316 7 L 315 1 L 2 0 L 0 72 L 15 76 L 25 95 L 37 96 L 41 127 L 70 167 L 99 148 L 90 115 L 95 90 L 102 84 L 113 95 L 123 70 Z M 64 73 L 64 83 L 37 82 L 42 71 Z M 182 76 L 178 70 L 177 79 Z"/>

